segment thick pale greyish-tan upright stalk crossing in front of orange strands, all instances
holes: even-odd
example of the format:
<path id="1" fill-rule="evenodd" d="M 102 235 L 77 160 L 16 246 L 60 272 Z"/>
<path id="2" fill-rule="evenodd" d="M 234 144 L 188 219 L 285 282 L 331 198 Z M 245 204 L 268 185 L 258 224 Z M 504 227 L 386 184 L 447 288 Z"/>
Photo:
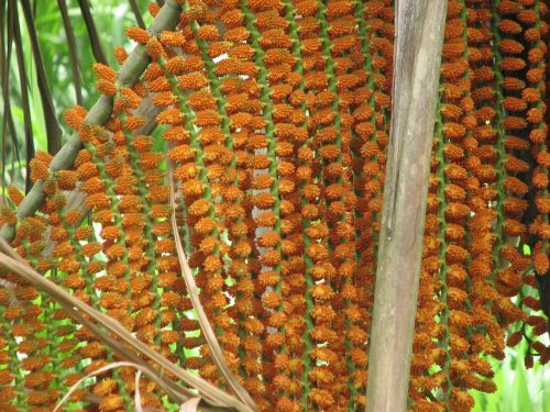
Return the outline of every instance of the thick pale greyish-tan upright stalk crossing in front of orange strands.
<path id="1" fill-rule="evenodd" d="M 400 0 L 382 212 L 367 407 L 405 411 L 446 0 Z"/>

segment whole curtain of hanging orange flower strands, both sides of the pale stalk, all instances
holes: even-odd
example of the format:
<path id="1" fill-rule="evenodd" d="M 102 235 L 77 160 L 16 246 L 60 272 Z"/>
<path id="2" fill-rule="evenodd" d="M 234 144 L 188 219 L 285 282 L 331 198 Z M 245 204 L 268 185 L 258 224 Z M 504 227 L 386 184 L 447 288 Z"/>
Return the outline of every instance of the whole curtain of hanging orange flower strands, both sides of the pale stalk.
<path id="1" fill-rule="evenodd" d="M 364 408 L 389 134 L 391 0 L 188 0 L 173 31 L 130 27 L 150 63 L 122 85 L 105 125 L 68 110 L 82 148 L 52 171 L 38 153 L 38 212 L 16 252 L 179 366 L 226 389 L 176 254 L 258 410 Z M 172 4 L 173 7 L 174 4 Z M 153 16 L 160 7 L 148 8 Z M 177 9 L 174 9 L 177 10 Z M 409 404 L 468 411 L 495 390 L 485 359 L 524 337 L 526 365 L 550 359 L 547 332 L 548 7 L 450 0 L 442 53 Z M 128 58 L 116 49 L 120 65 Z M 154 119 L 145 116 L 152 103 Z M 173 170 L 174 181 L 166 172 Z M 13 205 L 23 196 L 10 189 Z M 79 201 L 84 199 L 84 201 Z M 547 289 L 544 289 L 547 288 Z M 0 272 L 0 408 L 46 411 L 117 357 L 50 298 Z M 519 322 L 519 323 L 516 323 Z M 519 324 L 519 327 L 517 326 Z M 73 401 L 131 410 L 135 371 L 95 378 Z M 144 405 L 163 392 L 140 381 Z"/>

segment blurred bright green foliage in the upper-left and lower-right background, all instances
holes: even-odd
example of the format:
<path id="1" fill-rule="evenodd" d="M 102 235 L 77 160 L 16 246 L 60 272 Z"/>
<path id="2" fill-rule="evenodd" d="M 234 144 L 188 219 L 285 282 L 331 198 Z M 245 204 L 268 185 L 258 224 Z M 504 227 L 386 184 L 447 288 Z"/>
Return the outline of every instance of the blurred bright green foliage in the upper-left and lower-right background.
<path id="1" fill-rule="evenodd" d="M 78 76 L 81 80 L 81 96 L 84 105 L 89 108 L 98 98 L 95 90 L 96 78 L 91 65 L 96 62 L 94 56 L 89 33 L 81 10 L 77 0 L 62 0 L 67 4 L 70 23 L 76 40 L 76 53 L 78 55 Z M 21 30 L 24 69 L 26 71 L 28 90 L 20 88 L 20 67 L 12 49 L 11 58 L 7 60 L 7 44 L 10 21 L 7 9 L 9 3 L 19 4 L 19 1 L 0 0 L 0 14 L 2 37 L 0 78 L 6 70 L 9 70 L 8 88 L 2 87 L 0 94 L 0 132 L 1 132 L 1 160 L 4 166 L 2 176 L 2 193 L 8 185 L 15 185 L 20 188 L 25 186 L 26 164 L 25 157 L 25 121 L 23 92 L 29 97 L 30 119 L 32 127 L 33 145 L 35 151 L 47 151 L 48 140 L 44 110 L 38 89 L 36 66 L 30 41 L 30 31 L 37 35 L 42 58 L 47 78 L 48 91 L 54 103 L 56 118 L 67 136 L 67 127 L 63 124 L 63 111 L 76 104 L 76 89 L 74 82 L 75 67 L 70 65 L 69 44 L 67 33 L 59 12 L 58 1 L 34 0 L 31 5 L 34 10 L 34 26 L 28 26 L 21 4 L 19 4 L 19 19 L 12 21 Z M 85 1 L 86 2 L 86 1 Z M 142 13 L 142 18 L 147 25 L 152 18 L 146 12 L 148 1 L 136 0 L 135 4 Z M 117 45 L 130 49 L 130 43 L 124 36 L 124 29 L 129 25 L 136 25 L 136 16 L 128 0 L 89 0 L 88 5 L 92 11 L 94 21 L 99 34 L 99 42 L 110 65 L 116 66 L 113 48 Z M 12 46 L 14 47 L 14 46 Z M 8 118 L 3 112 L 4 101 L 9 98 L 12 112 L 14 135 L 4 126 Z M 63 142 L 62 142 L 63 143 Z M 527 370 L 524 366 L 526 353 L 525 342 L 515 348 L 507 349 L 507 357 L 504 361 L 493 361 L 496 370 L 495 382 L 498 390 L 492 394 L 472 391 L 475 398 L 475 412 L 516 412 L 534 411 L 550 412 L 550 367 L 535 365 Z"/>

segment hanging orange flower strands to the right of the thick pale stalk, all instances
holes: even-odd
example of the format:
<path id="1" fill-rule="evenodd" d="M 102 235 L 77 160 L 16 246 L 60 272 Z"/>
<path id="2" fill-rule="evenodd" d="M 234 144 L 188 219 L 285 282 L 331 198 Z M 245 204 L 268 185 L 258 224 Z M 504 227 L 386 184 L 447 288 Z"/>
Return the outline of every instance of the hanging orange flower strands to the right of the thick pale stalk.
<path id="1" fill-rule="evenodd" d="M 520 308 L 540 309 L 532 304 L 529 286 L 536 286 L 534 270 L 548 271 L 548 252 L 538 252 L 543 236 L 529 238 L 526 224 L 534 219 L 530 232 L 538 234 L 548 219 L 543 210 L 532 218 L 528 212 L 536 207 L 530 205 L 529 192 L 536 190 L 530 180 L 541 176 L 532 140 L 543 145 L 547 138 L 539 74 L 547 9 L 541 2 L 522 3 L 457 0 L 448 5 L 411 364 L 413 410 L 470 410 L 469 389 L 496 389 L 481 356 L 504 357 L 504 327 L 520 321 L 534 326 L 535 335 L 546 332 L 543 318 Z M 526 60 L 535 68 L 528 69 Z M 532 259 L 524 245 L 531 247 Z M 510 300 L 518 294 L 525 296 L 519 308 Z M 515 333 L 509 344 L 520 338 Z M 534 354 L 547 361 L 549 349 L 532 339 L 529 346 L 536 350 L 529 348 L 526 365 Z M 435 391 L 441 394 L 430 396 Z"/>

